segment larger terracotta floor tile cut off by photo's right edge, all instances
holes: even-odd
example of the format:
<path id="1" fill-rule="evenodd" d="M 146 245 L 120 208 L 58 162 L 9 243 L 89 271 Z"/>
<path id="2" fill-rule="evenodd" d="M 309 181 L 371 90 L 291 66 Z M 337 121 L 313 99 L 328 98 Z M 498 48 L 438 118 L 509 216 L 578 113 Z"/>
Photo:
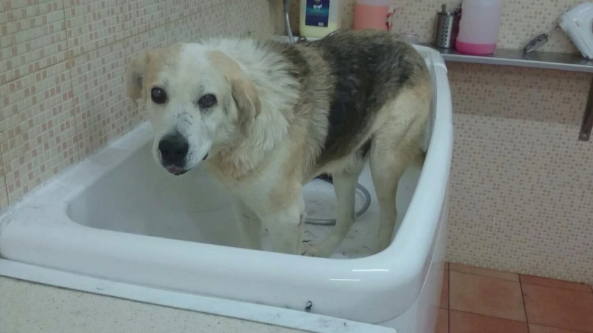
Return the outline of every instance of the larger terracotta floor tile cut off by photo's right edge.
<path id="1" fill-rule="evenodd" d="M 593 293 L 523 284 L 529 323 L 593 333 Z"/>

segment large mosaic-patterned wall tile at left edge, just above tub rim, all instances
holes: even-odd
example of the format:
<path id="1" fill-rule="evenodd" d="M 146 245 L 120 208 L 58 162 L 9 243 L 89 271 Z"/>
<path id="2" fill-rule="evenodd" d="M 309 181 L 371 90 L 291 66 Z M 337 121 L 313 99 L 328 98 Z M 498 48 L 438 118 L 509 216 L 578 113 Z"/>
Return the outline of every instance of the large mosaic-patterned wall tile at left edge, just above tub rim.
<path id="1" fill-rule="evenodd" d="M 0 85 L 8 105 L 0 133 L 11 203 L 79 160 L 68 67 L 60 62 Z"/>

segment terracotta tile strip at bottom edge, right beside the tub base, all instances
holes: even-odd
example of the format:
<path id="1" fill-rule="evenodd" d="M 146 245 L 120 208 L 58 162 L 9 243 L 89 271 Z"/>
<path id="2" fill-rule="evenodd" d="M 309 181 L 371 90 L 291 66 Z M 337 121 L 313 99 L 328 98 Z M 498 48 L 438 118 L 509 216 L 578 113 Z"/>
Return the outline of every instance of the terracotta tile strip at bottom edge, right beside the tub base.
<path id="1" fill-rule="evenodd" d="M 529 333 L 527 323 L 450 310 L 451 333 Z"/>

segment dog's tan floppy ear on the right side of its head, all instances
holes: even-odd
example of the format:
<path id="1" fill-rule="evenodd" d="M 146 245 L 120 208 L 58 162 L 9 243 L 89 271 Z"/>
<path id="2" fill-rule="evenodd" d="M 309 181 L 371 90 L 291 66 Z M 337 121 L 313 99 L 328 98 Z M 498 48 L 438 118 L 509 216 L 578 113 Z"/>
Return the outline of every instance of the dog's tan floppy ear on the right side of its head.
<path id="1" fill-rule="evenodd" d="M 248 135 L 261 110 L 257 86 L 237 62 L 225 53 L 212 51 L 209 56 L 213 64 L 225 74 L 231 84 L 233 99 L 239 112 L 238 125 L 241 127 L 241 132 Z"/>

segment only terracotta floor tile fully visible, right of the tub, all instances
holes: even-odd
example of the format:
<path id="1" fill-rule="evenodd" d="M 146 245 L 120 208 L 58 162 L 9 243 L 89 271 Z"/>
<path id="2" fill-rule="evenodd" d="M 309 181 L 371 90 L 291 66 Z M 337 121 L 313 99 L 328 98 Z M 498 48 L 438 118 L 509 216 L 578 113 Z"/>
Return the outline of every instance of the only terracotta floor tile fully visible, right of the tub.
<path id="1" fill-rule="evenodd" d="M 521 284 L 487 276 L 450 271 L 449 308 L 526 321 Z"/>

